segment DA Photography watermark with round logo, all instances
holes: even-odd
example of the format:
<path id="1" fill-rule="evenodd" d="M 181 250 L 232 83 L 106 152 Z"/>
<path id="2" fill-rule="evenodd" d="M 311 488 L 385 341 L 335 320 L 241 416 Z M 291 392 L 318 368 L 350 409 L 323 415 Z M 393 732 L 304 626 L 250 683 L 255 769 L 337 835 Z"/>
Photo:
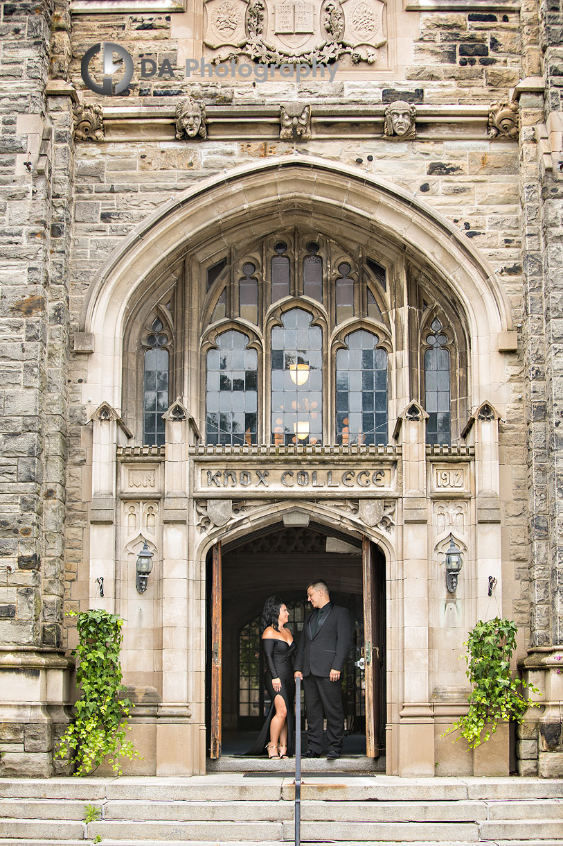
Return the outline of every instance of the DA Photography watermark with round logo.
<path id="1" fill-rule="evenodd" d="M 90 62 L 98 53 L 100 54 L 103 70 L 101 83 L 93 80 L 90 74 Z M 116 55 L 119 60 L 117 63 L 114 63 L 113 58 Z M 205 62 L 204 58 L 189 58 L 186 59 L 185 68 L 173 68 L 170 60 L 167 58 L 163 59 L 160 64 L 153 58 L 141 58 L 140 60 L 141 80 L 150 80 L 153 77 L 167 80 L 179 80 L 182 78 L 189 80 L 191 77 L 195 77 L 198 80 L 213 78 L 221 80 L 228 77 L 232 80 L 265 82 L 266 80 L 275 79 L 277 73 L 283 79 L 296 80 L 297 82 L 305 80 L 308 77 L 311 79 L 327 79 L 332 82 L 337 69 L 337 62 L 329 66 L 319 64 L 316 59 L 313 59 L 313 63 L 309 65 L 304 63 L 238 63 L 234 58 L 229 62 L 212 64 Z M 85 85 L 90 88 L 90 91 L 103 96 L 122 94 L 123 91 L 128 89 L 129 84 L 133 80 L 133 57 L 121 44 L 115 44 L 112 41 L 106 41 L 103 44 L 94 44 L 85 52 L 80 65 L 80 71 L 82 79 Z"/>

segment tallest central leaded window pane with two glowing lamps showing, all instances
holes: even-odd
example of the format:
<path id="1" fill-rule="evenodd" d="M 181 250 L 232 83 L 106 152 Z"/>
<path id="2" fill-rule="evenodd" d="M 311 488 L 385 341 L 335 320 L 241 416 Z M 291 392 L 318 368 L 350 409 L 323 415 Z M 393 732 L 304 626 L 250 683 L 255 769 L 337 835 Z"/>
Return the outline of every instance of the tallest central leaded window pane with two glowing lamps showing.
<path id="1" fill-rule="evenodd" d="M 271 439 L 276 445 L 322 440 L 322 330 L 292 309 L 271 330 Z"/>

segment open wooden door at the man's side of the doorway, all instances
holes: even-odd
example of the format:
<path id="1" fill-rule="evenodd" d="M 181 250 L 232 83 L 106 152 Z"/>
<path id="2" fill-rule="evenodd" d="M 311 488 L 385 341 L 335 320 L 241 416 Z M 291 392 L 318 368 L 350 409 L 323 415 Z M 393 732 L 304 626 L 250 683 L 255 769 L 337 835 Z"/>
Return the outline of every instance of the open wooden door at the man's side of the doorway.
<path id="1" fill-rule="evenodd" d="M 366 755 L 378 758 L 381 751 L 382 720 L 382 583 L 381 574 L 374 569 L 374 547 L 369 538 L 362 541 L 363 571 L 363 659 L 365 673 L 365 734 Z"/>

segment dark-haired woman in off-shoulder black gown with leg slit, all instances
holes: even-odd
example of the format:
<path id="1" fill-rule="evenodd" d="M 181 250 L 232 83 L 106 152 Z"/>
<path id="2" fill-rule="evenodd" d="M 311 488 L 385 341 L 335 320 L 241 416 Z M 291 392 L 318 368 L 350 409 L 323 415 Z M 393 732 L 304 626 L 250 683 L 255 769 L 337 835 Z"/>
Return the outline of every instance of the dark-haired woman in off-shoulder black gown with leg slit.
<path id="1" fill-rule="evenodd" d="M 270 596 L 264 605 L 260 629 L 265 661 L 264 684 L 271 698 L 270 711 L 262 731 L 247 755 L 287 758 L 293 754 L 293 700 L 295 643 L 286 629 L 289 612 L 279 596 Z"/>

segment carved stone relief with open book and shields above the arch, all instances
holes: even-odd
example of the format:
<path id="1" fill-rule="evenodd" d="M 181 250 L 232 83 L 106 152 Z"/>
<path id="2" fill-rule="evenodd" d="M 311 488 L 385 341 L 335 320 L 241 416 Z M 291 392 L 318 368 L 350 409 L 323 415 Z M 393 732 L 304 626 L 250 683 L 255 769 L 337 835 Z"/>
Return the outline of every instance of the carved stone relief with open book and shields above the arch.
<path id="1" fill-rule="evenodd" d="M 349 55 L 374 63 L 386 43 L 382 0 L 206 0 L 212 61 L 249 57 L 265 64 L 327 64 Z"/>

